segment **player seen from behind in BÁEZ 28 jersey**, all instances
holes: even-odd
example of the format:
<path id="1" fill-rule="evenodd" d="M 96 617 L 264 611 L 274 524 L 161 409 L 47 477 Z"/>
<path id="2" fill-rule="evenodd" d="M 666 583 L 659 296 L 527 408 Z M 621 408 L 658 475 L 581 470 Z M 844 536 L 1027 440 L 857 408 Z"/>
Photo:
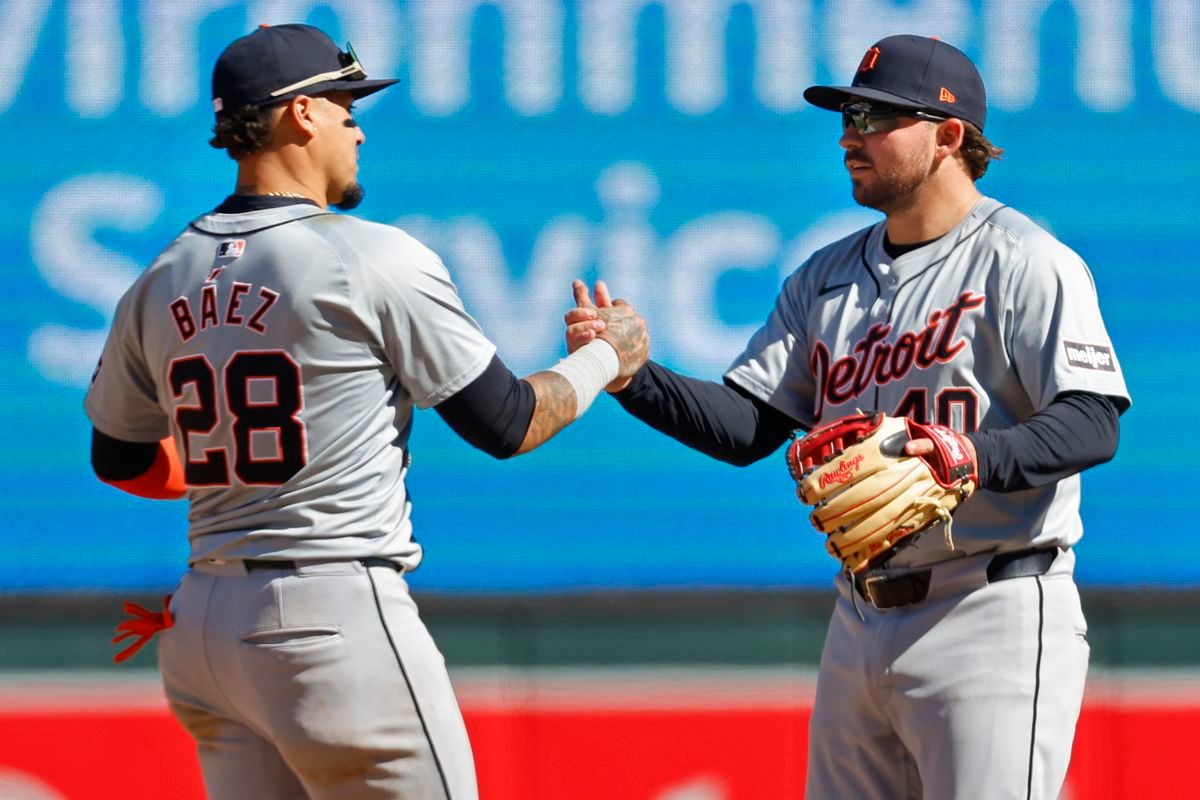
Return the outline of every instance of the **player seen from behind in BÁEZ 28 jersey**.
<path id="1" fill-rule="evenodd" d="M 445 664 L 406 588 L 414 407 L 504 458 L 553 437 L 646 359 L 628 307 L 604 343 L 517 379 L 442 261 L 335 213 L 362 197 L 368 80 L 307 25 L 234 41 L 211 144 L 234 193 L 121 299 L 86 411 L 101 480 L 190 501 L 190 570 L 162 631 L 167 698 L 211 798 L 476 796 Z M 130 655 L 131 650 L 122 655 Z"/>

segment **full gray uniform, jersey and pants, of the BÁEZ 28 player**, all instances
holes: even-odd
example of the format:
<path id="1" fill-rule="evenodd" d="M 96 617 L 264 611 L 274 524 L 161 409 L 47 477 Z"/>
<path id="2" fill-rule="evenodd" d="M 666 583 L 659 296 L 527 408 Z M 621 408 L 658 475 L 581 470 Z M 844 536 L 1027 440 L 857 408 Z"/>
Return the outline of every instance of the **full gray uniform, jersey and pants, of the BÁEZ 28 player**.
<path id="1" fill-rule="evenodd" d="M 478 796 L 408 595 L 414 407 L 496 348 L 403 231 L 316 206 L 194 221 L 121 299 L 86 410 L 185 464 L 192 569 L 158 645 L 212 798 Z"/>

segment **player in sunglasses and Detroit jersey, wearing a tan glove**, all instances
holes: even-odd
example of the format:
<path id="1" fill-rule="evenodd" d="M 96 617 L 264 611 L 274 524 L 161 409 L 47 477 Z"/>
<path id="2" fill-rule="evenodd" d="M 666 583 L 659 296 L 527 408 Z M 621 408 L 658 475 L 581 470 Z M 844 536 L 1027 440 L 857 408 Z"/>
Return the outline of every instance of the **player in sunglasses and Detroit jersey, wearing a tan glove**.
<path id="1" fill-rule="evenodd" d="M 980 485 L 953 536 L 929 528 L 835 582 L 806 796 L 1056 798 L 1088 660 L 1079 473 L 1112 457 L 1129 407 L 1096 287 L 1074 252 L 977 191 L 1001 151 L 954 47 L 884 38 L 850 86 L 805 97 L 840 112 L 854 199 L 886 218 L 784 282 L 724 384 L 649 361 L 610 389 L 734 464 L 856 409 L 952 429 Z M 604 284 L 599 308 L 575 291 L 569 349 L 604 330 L 608 303 Z"/>

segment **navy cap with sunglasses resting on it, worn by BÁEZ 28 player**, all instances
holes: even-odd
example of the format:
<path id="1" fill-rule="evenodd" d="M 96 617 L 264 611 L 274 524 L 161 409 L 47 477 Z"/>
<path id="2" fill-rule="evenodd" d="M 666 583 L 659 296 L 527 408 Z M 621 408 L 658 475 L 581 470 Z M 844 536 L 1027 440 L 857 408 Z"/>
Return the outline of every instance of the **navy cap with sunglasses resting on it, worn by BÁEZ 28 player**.
<path id="1" fill-rule="evenodd" d="M 298 95 L 348 91 L 364 97 L 396 83 L 367 80 L 354 48 L 342 52 L 312 25 L 259 25 L 234 42 L 212 67 L 212 110 L 275 106 Z"/>

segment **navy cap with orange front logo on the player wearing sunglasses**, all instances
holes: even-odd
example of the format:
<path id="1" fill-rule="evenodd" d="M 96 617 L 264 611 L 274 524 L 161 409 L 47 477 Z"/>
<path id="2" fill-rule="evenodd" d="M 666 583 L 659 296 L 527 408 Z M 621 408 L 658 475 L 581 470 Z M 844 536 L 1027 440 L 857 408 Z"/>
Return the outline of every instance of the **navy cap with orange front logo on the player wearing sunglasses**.
<path id="1" fill-rule="evenodd" d="M 955 116 L 983 131 L 988 96 L 962 50 L 926 36 L 888 36 L 872 44 L 848 86 L 809 86 L 804 100 L 836 112 L 853 97 L 893 108 Z"/>

